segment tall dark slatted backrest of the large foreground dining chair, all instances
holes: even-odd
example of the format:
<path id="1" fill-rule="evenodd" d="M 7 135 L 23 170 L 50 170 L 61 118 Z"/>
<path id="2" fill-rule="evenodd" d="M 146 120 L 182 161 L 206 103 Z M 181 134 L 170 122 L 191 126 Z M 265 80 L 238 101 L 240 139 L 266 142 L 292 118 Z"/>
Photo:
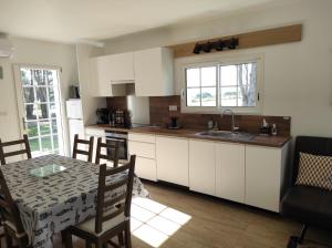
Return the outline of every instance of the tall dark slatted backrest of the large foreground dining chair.
<path id="1" fill-rule="evenodd" d="M 132 155 L 128 163 L 116 168 L 107 169 L 105 164 L 101 165 L 95 217 L 96 234 L 103 230 L 104 221 L 118 215 L 131 216 L 135 161 L 136 156 Z M 107 182 L 107 177 L 113 176 L 115 178 L 116 175 L 120 175 L 118 179 Z M 112 195 L 114 192 L 117 192 L 120 195 L 105 200 L 105 195 Z M 110 208 L 113 210 L 110 211 Z"/>

